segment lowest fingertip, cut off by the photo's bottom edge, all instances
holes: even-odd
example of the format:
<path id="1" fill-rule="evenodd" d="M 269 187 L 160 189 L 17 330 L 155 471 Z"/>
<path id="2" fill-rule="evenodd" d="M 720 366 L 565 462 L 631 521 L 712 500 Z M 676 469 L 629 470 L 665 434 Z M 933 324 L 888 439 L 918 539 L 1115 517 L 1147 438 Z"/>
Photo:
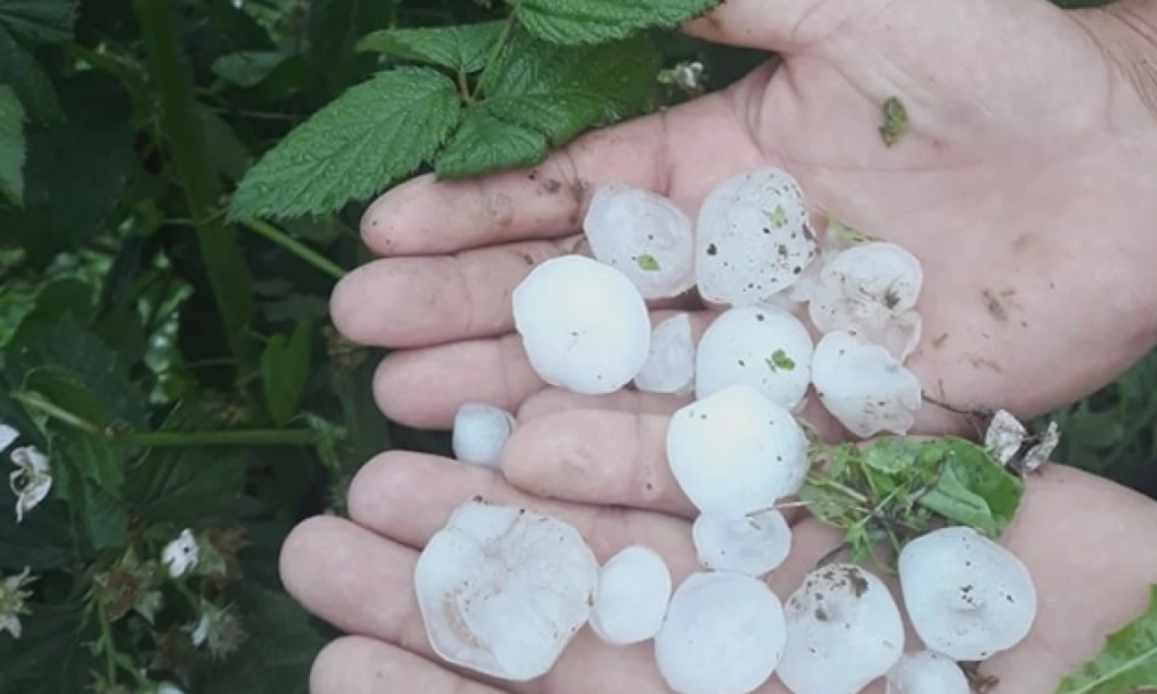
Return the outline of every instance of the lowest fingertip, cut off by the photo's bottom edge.
<path id="1" fill-rule="evenodd" d="M 310 672 L 310 694 L 502 694 L 392 644 L 361 636 L 325 647 Z"/>

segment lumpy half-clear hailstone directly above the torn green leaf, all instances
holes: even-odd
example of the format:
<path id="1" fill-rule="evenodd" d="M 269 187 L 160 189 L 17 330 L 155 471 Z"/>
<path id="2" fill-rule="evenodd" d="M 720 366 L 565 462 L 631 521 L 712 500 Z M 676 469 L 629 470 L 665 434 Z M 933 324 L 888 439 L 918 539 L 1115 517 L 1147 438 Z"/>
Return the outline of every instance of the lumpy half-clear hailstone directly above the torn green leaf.
<path id="1" fill-rule="evenodd" d="M 923 399 L 915 374 L 879 345 L 845 331 L 830 332 L 816 345 L 811 381 L 824 407 L 861 438 L 907 434 Z"/>

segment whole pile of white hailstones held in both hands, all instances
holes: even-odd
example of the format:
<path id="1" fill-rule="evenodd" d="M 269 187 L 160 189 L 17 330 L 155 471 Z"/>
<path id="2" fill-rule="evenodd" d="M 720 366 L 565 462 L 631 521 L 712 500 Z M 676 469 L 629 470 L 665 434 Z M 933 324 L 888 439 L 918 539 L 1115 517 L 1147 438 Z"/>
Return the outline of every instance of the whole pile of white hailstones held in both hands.
<path id="1" fill-rule="evenodd" d="M 692 539 L 702 570 L 675 589 L 663 558 L 641 545 L 599 566 L 572 525 L 474 500 L 415 569 L 440 657 L 526 681 L 589 625 L 607 644 L 653 642 L 679 694 L 742 694 L 773 675 L 795 694 L 855 694 L 879 678 L 893 694 L 964 694 L 963 663 L 1027 635 L 1037 597 L 1026 568 L 968 527 L 933 531 L 899 556 L 922 650 L 905 652 L 896 598 L 858 564 L 816 568 L 786 601 L 766 582 L 791 546 L 780 509 L 808 471 L 796 415 L 809 389 L 861 437 L 912 426 L 921 391 L 904 363 L 920 338 L 922 274 L 909 252 L 839 224 L 818 241 L 797 183 L 776 169 L 725 180 L 694 223 L 661 195 L 609 185 L 584 231 L 594 259 L 548 260 L 515 290 L 517 331 L 555 386 L 690 397 L 666 453 L 700 514 Z M 685 313 L 653 327 L 644 304 L 693 288 L 722 311 L 698 347 Z M 493 466 L 514 427 L 496 407 L 463 406 L 456 456 Z"/>

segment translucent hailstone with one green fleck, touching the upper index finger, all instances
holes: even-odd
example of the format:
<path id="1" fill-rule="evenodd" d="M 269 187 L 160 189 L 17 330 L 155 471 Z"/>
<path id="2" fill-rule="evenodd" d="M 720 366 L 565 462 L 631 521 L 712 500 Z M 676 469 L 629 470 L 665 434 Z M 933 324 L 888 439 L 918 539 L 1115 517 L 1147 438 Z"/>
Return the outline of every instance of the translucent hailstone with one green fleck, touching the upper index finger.
<path id="1" fill-rule="evenodd" d="M 643 298 L 678 296 L 695 285 L 691 219 L 663 195 L 605 185 L 591 198 L 583 230 L 595 258 L 631 278 Z"/>

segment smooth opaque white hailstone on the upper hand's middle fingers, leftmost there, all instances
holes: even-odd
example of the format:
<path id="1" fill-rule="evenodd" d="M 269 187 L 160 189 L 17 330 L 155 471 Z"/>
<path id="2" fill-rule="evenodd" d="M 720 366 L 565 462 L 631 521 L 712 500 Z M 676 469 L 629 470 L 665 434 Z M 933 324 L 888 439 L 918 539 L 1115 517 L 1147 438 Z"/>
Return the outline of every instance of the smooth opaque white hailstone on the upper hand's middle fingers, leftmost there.
<path id="1" fill-rule="evenodd" d="M 530 364 L 551 385 L 612 393 L 647 363 L 647 304 L 610 265 L 584 256 L 552 258 L 515 288 L 513 301 Z"/>

